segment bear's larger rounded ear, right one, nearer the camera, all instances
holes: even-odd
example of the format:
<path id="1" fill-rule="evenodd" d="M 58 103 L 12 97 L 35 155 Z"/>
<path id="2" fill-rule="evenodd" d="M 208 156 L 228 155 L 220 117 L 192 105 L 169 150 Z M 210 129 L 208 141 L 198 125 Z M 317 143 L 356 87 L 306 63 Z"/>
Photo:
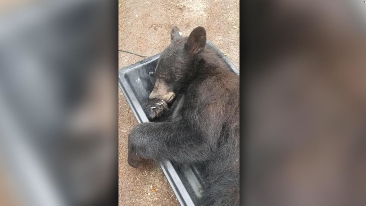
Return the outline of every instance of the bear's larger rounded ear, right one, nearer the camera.
<path id="1" fill-rule="evenodd" d="M 187 49 L 193 54 L 198 54 L 206 45 L 206 30 L 199 26 L 191 32 L 187 40 Z"/>

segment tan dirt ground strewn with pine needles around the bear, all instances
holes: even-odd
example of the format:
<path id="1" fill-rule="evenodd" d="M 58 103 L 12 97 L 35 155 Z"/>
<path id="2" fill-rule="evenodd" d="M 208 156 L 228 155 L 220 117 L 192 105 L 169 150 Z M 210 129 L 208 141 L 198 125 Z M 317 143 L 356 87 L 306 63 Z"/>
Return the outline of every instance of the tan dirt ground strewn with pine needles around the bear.
<path id="1" fill-rule="evenodd" d="M 239 69 L 239 0 L 119 0 L 119 49 L 144 56 L 164 50 L 170 30 L 177 25 L 183 36 L 197 26 Z M 119 69 L 140 56 L 119 52 Z M 127 163 L 127 137 L 137 120 L 119 89 L 119 205 L 178 206 L 160 166 L 151 162 L 140 168 Z"/>

